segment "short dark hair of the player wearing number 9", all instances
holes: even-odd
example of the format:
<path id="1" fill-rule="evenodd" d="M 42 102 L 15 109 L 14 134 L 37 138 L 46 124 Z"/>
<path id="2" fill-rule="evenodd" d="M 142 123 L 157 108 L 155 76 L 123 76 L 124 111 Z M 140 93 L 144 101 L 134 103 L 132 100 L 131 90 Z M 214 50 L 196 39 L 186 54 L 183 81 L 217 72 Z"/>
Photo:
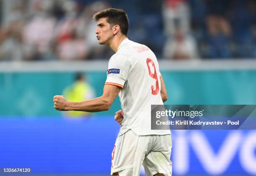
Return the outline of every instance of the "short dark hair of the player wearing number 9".
<path id="1" fill-rule="evenodd" d="M 114 9 L 108 8 L 105 10 L 101 10 L 93 15 L 93 19 L 95 21 L 99 21 L 100 18 L 107 18 L 107 22 L 113 25 L 119 25 L 121 29 L 121 33 L 127 36 L 129 29 L 129 20 L 128 16 L 123 9 Z"/>

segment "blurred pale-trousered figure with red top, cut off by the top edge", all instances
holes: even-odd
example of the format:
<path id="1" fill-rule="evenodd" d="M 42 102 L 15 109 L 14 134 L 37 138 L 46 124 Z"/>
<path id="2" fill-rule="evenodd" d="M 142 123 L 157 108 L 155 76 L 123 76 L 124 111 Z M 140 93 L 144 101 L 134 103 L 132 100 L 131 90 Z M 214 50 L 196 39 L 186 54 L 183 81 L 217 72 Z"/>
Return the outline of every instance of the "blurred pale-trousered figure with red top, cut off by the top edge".
<path id="1" fill-rule="evenodd" d="M 187 0 L 164 0 L 163 5 L 164 32 L 174 35 L 176 28 L 187 33 L 190 30 L 190 9 Z"/>

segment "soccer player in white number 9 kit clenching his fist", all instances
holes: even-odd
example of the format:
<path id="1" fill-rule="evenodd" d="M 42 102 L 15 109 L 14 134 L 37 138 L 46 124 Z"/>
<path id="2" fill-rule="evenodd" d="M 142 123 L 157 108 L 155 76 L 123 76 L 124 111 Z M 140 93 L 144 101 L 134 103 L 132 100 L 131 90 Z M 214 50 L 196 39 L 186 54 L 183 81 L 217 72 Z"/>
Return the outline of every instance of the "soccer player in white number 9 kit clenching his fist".
<path id="1" fill-rule="evenodd" d="M 127 38 L 128 17 L 124 10 L 108 8 L 93 16 L 97 40 L 115 54 L 108 63 L 102 96 L 83 102 L 68 102 L 54 96 L 59 111 L 108 111 L 118 96 L 122 110 L 115 120 L 120 131 L 112 152 L 111 175 L 139 176 L 141 164 L 147 176 L 171 176 L 170 130 L 151 130 L 151 104 L 167 100 L 164 80 L 154 53 Z"/>

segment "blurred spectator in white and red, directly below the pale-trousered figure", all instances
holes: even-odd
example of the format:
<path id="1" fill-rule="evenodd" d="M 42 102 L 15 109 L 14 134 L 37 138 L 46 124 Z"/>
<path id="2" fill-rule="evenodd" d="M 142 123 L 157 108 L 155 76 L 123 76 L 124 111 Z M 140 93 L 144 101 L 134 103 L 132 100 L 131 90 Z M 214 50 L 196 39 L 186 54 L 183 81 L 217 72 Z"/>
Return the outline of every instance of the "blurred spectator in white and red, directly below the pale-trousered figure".
<path id="1" fill-rule="evenodd" d="M 164 46 L 164 58 L 175 60 L 199 58 L 195 39 L 178 28 L 174 37 L 169 38 Z"/>

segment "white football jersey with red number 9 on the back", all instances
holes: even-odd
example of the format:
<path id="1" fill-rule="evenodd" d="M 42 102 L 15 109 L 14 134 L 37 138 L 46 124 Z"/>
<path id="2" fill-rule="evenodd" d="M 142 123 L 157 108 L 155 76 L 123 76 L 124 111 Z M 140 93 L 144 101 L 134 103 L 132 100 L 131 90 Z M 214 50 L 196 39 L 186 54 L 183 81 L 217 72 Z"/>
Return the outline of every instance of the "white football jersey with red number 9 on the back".
<path id="1" fill-rule="evenodd" d="M 151 130 L 151 105 L 163 105 L 160 78 L 155 54 L 145 45 L 123 40 L 109 60 L 105 83 L 122 88 L 124 118 L 118 136 L 129 129 L 141 136 L 170 134 L 170 130 Z"/>

